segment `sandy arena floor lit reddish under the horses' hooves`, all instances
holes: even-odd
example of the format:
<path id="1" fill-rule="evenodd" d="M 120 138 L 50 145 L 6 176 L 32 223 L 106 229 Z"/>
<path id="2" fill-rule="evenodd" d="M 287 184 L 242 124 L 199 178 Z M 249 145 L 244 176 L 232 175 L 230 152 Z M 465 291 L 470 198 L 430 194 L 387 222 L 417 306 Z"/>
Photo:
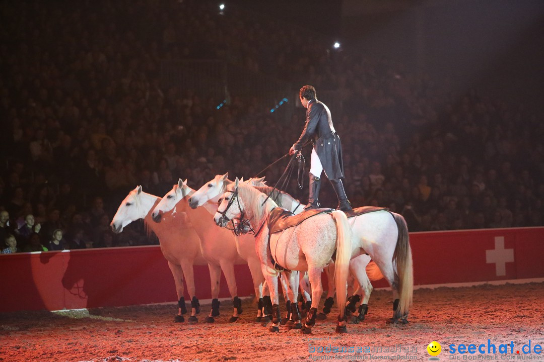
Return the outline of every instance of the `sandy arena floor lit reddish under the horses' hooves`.
<path id="1" fill-rule="evenodd" d="M 450 344 L 487 345 L 488 339 L 497 348 L 514 342 L 516 354 L 529 340 L 531 348 L 536 344 L 544 347 L 543 300 L 544 283 L 419 289 L 414 293 L 410 323 L 386 325 L 392 314 L 391 293 L 379 290 L 370 297 L 366 320 L 350 323 L 344 335 L 334 332 L 336 309 L 328 320 L 317 321 L 311 335 L 285 328 L 269 333 L 253 321 L 249 299 L 243 302 L 244 313 L 236 323 L 228 323 L 232 315 L 229 302 L 221 303 L 221 316 L 214 324 L 203 323 L 209 312 L 209 306 L 203 306 L 196 325 L 172 322 L 177 311 L 174 304 L 61 314 L 6 313 L 0 314 L 0 361 L 379 360 L 379 356 L 391 359 L 397 355 L 404 360 L 428 360 L 426 346 L 431 341 L 442 345 L 440 360 L 448 360 L 452 357 Z M 320 310 L 322 306 L 323 301 Z M 283 315 L 285 306 L 281 308 Z M 326 351 L 329 345 L 351 346 L 355 352 L 310 352 L 319 347 Z M 362 352 L 356 353 L 357 348 Z M 477 355 L 464 357 L 475 359 Z M 497 354 L 497 359 L 518 356 Z M 530 356 L 544 360 L 544 353 Z"/>

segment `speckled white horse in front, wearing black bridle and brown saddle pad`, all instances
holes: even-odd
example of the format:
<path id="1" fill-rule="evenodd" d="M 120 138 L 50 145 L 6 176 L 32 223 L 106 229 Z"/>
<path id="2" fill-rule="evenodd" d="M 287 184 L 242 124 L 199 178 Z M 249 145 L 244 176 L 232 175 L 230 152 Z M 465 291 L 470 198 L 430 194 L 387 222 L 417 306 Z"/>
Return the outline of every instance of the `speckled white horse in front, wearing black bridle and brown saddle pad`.
<path id="1" fill-rule="evenodd" d="M 261 267 L 270 288 L 273 300 L 273 320 L 271 332 L 279 331 L 280 309 L 278 301 L 277 275 L 275 263 L 280 263 L 289 280 L 289 293 L 296 297 L 298 285 L 290 278 L 291 270 L 308 271 L 312 287 L 312 308 L 308 312 L 302 333 L 311 333 L 315 323 L 317 307 L 323 294 L 321 273 L 336 253 L 335 285 L 340 313 L 336 332 L 346 331 L 345 300 L 347 292 L 347 277 L 351 252 L 351 231 L 348 219 L 342 211 L 331 214 L 315 215 L 294 228 L 270 234 L 268 219 L 271 211 L 277 208 L 276 203 L 267 198 L 259 190 L 239 182 L 227 186 L 227 192 L 222 197 L 221 204 L 215 213 L 214 220 L 219 226 L 225 227 L 230 220 L 238 215 L 245 215 L 251 227 L 256 231 L 255 247 L 261 261 Z M 271 250 L 281 252 L 275 253 Z M 291 295 L 290 295 L 291 296 Z"/>

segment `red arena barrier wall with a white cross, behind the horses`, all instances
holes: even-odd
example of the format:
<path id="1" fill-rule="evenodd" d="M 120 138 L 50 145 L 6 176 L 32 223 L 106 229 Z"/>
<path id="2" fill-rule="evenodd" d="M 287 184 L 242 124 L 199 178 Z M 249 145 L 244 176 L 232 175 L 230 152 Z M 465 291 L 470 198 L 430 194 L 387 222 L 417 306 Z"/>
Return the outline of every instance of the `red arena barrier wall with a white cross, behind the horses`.
<path id="1" fill-rule="evenodd" d="M 410 244 L 416 285 L 544 277 L 544 227 L 411 233 Z M 194 270 L 197 297 L 211 298 L 207 266 Z M 253 294 L 248 266 L 235 272 L 238 295 Z M 0 312 L 177 300 L 159 246 L 0 255 L 0 275 Z"/>

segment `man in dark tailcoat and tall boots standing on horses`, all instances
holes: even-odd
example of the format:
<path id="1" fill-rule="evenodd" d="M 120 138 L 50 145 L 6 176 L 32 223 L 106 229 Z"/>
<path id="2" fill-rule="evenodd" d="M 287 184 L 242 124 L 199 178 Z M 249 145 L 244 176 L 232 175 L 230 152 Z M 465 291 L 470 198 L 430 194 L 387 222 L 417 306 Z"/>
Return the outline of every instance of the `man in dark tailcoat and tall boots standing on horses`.
<path id="1" fill-rule="evenodd" d="M 342 178 L 344 177 L 344 164 L 342 161 L 342 145 L 340 137 L 332 125 L 331 111 L 329 107 L 317 100 L 316 88 L 305 85 L 300 88 L 300 102 L 306 108 L 306 125 L 304 130 L 289 150 L 293 155 L 300 152 L 307 141 L 312 141 L 312 158 L 310 161 L 310 196 L 305 210 L 318 208 L 319 189 L 321 186 L 321 173 L 331 181 L 338 197 L 337 209 L 346 213 L 353 212 L 348 196 L 345 194 Z"/>

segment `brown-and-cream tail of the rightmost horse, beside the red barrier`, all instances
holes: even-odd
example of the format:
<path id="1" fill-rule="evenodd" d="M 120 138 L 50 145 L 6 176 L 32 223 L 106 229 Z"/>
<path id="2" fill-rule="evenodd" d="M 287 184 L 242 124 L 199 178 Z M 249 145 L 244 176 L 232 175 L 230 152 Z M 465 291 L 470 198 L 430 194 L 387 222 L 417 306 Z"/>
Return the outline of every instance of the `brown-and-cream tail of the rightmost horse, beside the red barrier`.
<path id="1" fill-rule="evenodd" d="M 393 253 L 393 261 L 397 265 L 397 277 L 399 282 L 399 307 L 398 311 L 401 316 L 408 313 L 412 304 L 413 294 L 413 266 L 412 266 L 412 250 L 410 248 L 410 240 L 408 234 L 408 226 L 406 220 L 396 213 L 392 213 L 397 227 L 399 236 L 397 239 L 397 247 Z"/>

